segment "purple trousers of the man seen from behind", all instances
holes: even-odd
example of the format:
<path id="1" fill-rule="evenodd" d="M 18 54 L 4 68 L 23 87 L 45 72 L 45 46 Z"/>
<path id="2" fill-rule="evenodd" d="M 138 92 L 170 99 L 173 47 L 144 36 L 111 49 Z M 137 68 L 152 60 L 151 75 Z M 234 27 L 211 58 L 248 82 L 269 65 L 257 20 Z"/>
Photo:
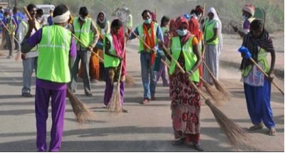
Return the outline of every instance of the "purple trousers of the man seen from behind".
<path id="1" fill-rule="evenodd" d="M 36 85 L 36 146 L 38 151 L 46 151 L 46 120 L 48 119 L 50 97 L 53 123 L 50 131 L 50 149 L 48 151 L 59 151 L 63 137 L 66 90 L 49 90 Z"/>

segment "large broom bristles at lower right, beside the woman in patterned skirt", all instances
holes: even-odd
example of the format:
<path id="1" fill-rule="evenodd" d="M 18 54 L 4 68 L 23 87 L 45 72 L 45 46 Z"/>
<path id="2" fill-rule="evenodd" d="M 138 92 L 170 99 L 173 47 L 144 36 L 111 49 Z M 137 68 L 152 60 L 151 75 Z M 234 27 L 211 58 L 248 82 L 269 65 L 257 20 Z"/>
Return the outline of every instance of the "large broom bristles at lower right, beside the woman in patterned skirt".
<path id="1" fill-rule="evenodd" d="M 243 149 L 245 151 L 260 151 L 260 149 L 255 145 L 254 141 L 249 135 L 244 132 L 242 127 L 232 122 L 225 114 L 223 114 L 220 109 L 213 105 L 210 99 L 205 100 L 205 104 L 208 105 L 213 112 L 217 123 L 225 132 L 227 139 L 229 139 L 230 144 L 235 149 Z"/>

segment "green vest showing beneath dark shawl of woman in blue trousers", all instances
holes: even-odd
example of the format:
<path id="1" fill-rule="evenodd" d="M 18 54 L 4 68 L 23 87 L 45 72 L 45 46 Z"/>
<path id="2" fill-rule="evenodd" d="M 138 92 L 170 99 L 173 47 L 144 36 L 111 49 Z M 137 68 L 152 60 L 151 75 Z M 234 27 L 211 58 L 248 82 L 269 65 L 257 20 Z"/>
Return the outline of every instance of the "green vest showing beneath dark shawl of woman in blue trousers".
<path id="1" fill-rule="evenodd" d="M 270 69 L 269 69 L 269 65 L 267 62 L 267 52 L 263 48 L 260 48 L 258 52 L 257 61 L 258 63 L 262 64 L 262 67 L 263 67 L 262 69 L 266 73 L 268 73 Z M 247 77 L 251 70 L 252 70 L 252 65 L 248 65 L 247 68 L 242 70 L 242 77 Z"/>

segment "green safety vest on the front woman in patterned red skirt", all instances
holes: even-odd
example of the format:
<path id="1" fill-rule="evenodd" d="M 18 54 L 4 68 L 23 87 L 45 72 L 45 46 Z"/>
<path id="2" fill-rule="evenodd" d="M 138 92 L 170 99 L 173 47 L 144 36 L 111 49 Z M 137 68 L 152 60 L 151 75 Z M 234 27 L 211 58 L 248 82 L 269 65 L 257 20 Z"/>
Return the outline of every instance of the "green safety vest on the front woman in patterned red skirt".
<path id="1" fill-rule="evenodd" d="M 173 58 L 175 58 L 175 60 L 178 60 L 179 56 L 181 55 L 180 38 L 179 36 L 176 36 L 176 37 L 173 37 L 171 40 L 172 40 L 171 52 L 172 52 Z M 185 71 L 186 72 L 190 71 L 197 61 L 197 57 L 195 53 L 193 53 L 192 41 L 193 41 L 193 36 L 189 38 L 187 43 L 185 43 L 182 48 L 182 53 L 183 53 L 184 60 L 185 60 Z M 175 70 L 176 70 L 176 62 L 174 60 L 171 60 L 171 67 L 169 70 L 169 74 L 173 75 Z M 199 70 L 195 70 L 193 75 L 190 76 L 190 80 L 195 81 L 195 82 L 200 81 Z"/>

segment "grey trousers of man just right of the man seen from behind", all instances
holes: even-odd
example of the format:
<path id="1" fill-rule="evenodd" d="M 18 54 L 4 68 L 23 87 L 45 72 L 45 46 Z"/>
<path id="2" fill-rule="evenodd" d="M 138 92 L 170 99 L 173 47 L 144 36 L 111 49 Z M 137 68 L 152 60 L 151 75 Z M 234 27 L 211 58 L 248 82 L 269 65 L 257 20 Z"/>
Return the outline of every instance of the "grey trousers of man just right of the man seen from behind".
<path id="1" fill-rule="evenodd" d="M 77 50 L 77 56 L 72 60 L 72 69 L 71 69 L 71 82 L 69 87 L 72 92 L 77 90 L 77 73 L 80 60 L 83 64 L 83 87 L 85 94 L 91 93 L 90 87 L 90 78 L 89 78 L 89 61 L 90 61 L 91 52 L 87 50 Z"/>

